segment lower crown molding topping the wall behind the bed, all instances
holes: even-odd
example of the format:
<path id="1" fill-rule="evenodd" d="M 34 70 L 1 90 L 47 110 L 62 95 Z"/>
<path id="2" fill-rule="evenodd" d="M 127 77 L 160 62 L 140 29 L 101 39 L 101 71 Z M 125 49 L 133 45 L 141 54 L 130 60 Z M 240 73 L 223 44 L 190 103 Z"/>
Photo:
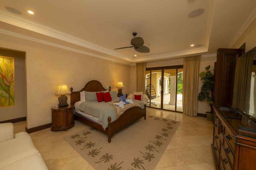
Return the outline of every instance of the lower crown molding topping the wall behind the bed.
<path id="1" fill-rule="evenodd" d="M 23 34 L 18 34 L 18 33 L 12 32 L 12 31 L 7 31 L 5 29 L 0 29 L 0 33 L 10 35 L 10 36 L 13 36 L 13 37 L 22 38 L 22 39 L 25 39 L 25 40 L 39 42 L 41 44 L 46 44 L 46 45 L 50 45 L 50 46 L 53 46 L 53 47 L 62 48 L 62 49 L 77 52 L 77 53 L 80 53 L 80 54 L 86 54 L 86 55 L 89 55 L 89 56 L 98 57 L 98 58 L 101 58 L 101 59 L 106 59 L 106 60 L 109 60 L 109 61 L 119 62 L 119 63 L 122 63 L 122 64 L 130 65 L 130 62 L 121 62 L 119 60 L 111 59 L 111 58 L 108 58 L 108 57 L 103 57 L 103 56 L 100 56 L 100 55 L 97 55 L 97 54 L 92 54 L 92 53 L 89 53 L 89 52 L 86 52 L 86 51 L 78 50 L 76 48 L 70 48 L 70 47 L 67 47 L 67 46 L 64 46 L 64 45 L 59 45 L 59 44 L 56 44 L 56 43 L 53 43 L 53 42 L 49 42 L 49 41 L 41 40 L 41 39 L 38 39 L 38 38 L 26 36 L 26 35 L 23 35 Z"/>

